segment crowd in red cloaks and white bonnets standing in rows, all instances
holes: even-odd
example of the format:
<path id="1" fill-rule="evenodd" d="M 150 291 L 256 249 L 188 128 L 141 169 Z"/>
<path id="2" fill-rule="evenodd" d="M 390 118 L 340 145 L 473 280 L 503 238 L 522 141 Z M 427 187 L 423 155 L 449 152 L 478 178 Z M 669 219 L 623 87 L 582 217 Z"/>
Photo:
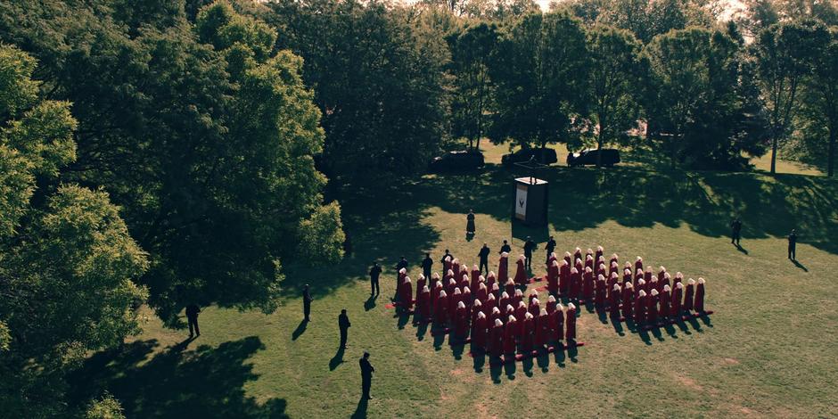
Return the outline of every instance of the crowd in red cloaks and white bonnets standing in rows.
<path id="1" fill-rule="evenodd" d="M 403 313 L 413 313 L 415 323 L 433 322 L 453 333 L 453 338 L 471 341 L 472 349 L 483 349 L 492 356 L 518 350 L 529 353 L 561 341 L 575 344 L 579 304 L 593 304 L 610 310 L 620 320 L 647 326 L 679 321 L 693 311 L 696 315 L 704 312 L 702 278 L 685 284 L 680 272 L 671 278 L 664 267 L 654 275 L 652 267 L 644 269 L 640 257 L 633 265 L 625 263 L 621 278 L 619 257 L 612 255 L 606 267 L 602 247 L 596 252 L 588 249 L 584 257 L 579 248 L 573 255 L 565 252 L 563 259 L 551 253 L 546 275 L 540 278 L 528 277 L 523 255 L 510 277 L 508 259 L 509 254 L 502 253 L 497 275 L 489 272 L 485 277 L 477 266 L 469 270 L 458 259 L 443 259 L 445 275 L 419 275 L 415 294 L 407 269 L 401 268 L 397 306 Z M 543 307 L 537 290 L 531 290 L 527 300 L 522 291 L 529 283 L 540 281 L 546 282 L 548 292 Z M 567 308 L 561 300 L 568 301 Z"/>

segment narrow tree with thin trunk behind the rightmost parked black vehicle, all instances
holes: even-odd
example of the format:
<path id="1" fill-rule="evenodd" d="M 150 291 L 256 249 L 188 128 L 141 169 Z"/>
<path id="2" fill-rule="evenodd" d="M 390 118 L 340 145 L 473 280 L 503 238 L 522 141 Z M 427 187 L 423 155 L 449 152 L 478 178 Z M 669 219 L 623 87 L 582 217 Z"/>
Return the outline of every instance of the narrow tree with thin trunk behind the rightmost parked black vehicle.
<path id="1" fill-rule="evenodd" d="M 599 150 L 636 125 L 635 89 L 640 43 L 628 30 L 596 25 L 587 32 L 587 50 L 591 60 L 589 86 Z M 597 166 L 600 166 L 600 160 L 601 156 L 597 154 Z"/>

